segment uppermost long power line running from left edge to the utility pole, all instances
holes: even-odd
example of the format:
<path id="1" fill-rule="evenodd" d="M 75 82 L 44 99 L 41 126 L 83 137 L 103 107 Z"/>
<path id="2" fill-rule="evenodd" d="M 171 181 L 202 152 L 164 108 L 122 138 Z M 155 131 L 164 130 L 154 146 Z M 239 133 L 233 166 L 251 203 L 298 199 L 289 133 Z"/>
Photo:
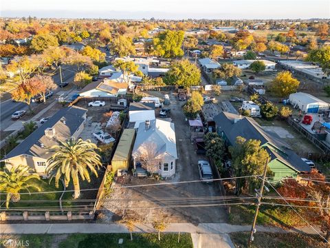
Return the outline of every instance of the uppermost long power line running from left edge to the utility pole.
<path id="1" fill-rule="evenodd" d="M 252 175 L 252 176 L 236 176 L 231 178 L 216 178 L 216 179 L 209 179 L 209 180 L 190 180 L 190 181 L 181 181 L 181 182 L 171 182 L 171 183 L 151 183 L 146 185 L 128 185 L 128 186 L 119 186 L 119 187 L 113 187 L 113 189 L 122 189 L 122 188 L 133 188 L 133 187 L 149 187 L 149 186 L 164 186 L 164 185 L 177 185 L 177 184 L 183 184 L 183 183 L 207 183 L 207 182 L 215 182 L 219 180 L 232 180 L 236 178 L 249 178 L 249 177 L 259 177 L 261 175 Z M 92 190 L 98 190 L 100 188 L 96 189 L 80 189 L 80 192 L 84 191 L 92 191 Z M 74 192 L 74 189 L 71 190 L 58 190 L 53 192 L 31 192 L 31 193 L 19 193 L 22 194 L 49 194 L 49 193 L 62 193 L 62 192 Z M 6 193 L 0 193 L 0 195 L 6 195 Z"/>

